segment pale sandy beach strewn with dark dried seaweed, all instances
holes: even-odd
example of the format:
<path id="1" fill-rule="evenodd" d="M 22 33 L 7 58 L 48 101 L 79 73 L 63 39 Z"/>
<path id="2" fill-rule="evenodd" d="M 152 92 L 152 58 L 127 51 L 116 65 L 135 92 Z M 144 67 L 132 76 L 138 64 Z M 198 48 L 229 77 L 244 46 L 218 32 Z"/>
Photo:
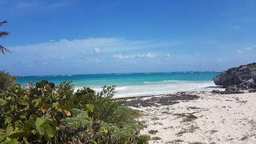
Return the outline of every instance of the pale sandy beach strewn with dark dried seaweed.
<path id="1" fill-rule="evenodd" d="M 183 92 L 133 98 L 128 105 L 143 111 L 139 121 L 147 128 L 140 134 L 161 138 L 150 144 L 256 144 L 256 93 Z"/>

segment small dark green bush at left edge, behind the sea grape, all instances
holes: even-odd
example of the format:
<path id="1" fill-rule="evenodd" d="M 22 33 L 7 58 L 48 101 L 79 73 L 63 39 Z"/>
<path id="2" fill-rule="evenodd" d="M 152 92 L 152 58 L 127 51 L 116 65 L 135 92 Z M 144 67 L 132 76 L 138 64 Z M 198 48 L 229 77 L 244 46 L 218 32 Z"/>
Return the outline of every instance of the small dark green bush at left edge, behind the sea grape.
<path id="1" fill-rule="evenodd" d="M 9 74 L 9 72 L 0 71 L 0 91 L 7 90 L 10 86 L 16 85 L 17 78 Z"/>

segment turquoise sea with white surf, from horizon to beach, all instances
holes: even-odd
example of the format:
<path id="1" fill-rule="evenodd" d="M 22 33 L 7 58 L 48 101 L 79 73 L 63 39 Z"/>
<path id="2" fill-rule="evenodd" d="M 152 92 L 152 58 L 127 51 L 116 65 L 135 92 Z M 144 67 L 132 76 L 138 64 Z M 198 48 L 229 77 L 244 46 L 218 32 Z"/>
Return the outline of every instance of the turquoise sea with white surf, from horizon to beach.
<path id="1" fill-rule="evenodd" d="M 145 73 L 112 73 L 86 75 L 53 75 L 17 77 L 19 84 L 29 81 L 48 80 L 55 85 L 67 80 L 73 81 L 75 91 L 84 86 L 100 92 L 102 86 L 117 85 L 115 97 L 132 97 L 168 94 L 173 92 L 220 90 L 213 82 L 213 77 L 221 71 L 214 72 L 145 72 Z"/>

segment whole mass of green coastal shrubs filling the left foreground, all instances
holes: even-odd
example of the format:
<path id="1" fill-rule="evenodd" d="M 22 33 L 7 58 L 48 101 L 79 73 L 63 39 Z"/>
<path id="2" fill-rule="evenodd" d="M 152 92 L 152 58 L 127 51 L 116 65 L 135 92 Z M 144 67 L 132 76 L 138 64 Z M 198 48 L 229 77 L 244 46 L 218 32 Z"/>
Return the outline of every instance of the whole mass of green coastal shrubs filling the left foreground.
<path id="1" fill-rule="evenodd" d="M 74 92 L 72 81 L 29 88 L 0 72 L 0 144 L 148 144 L 139 111 L 114 99 L 115 86 Z"/>

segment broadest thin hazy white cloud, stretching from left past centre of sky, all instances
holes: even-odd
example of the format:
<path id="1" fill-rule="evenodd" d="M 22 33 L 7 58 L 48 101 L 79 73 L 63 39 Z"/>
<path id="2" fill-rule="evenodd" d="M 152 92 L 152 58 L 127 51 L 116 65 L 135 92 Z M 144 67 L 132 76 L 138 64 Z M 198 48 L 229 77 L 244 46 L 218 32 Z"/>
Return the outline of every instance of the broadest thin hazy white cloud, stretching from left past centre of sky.
<path id="1" fill-rule="evenodd" d="M 118 38 L 90 38 L 90 39 L 61 39 L 54 42 L 46 42 L 34 45 L 7 47 L 15 52 L 26 52 L 30 54 L 40 54 L 41 57 L 56 58 L 61 56 L 76 56 L 78 53 L 93 54 L 93 47 L 100 47 L 100 53 L 104 52 L 122 52 L 146 48 L 155 48 L 169 46 L 170 43 L 158 43 L 153 41 L 145 41 L 143 43 L 134 40 L 118 39 Z"/>

